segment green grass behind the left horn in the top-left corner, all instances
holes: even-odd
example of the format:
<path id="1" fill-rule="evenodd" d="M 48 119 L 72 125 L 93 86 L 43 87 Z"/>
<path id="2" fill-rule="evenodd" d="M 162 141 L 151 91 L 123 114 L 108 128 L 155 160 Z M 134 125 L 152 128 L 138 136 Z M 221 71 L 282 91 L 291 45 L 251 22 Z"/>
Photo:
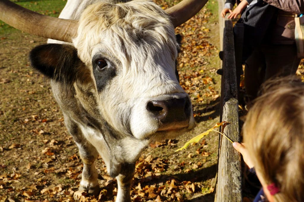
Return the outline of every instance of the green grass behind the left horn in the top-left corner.
<path id="1" fill-rule="evenodd" d="M 29 10 L 41 13 L 43 15 L 49 15 L 52 17 L 58 17 L 66 0 L 39 0 L 39 1 L 29 1 L 29 0 L 11 0 L 16 4 L 27 8 Z M 0 38 L 8 38 L 10 34 L 20 32 L 19 30 L 7 25 L 0 20 Z"/>

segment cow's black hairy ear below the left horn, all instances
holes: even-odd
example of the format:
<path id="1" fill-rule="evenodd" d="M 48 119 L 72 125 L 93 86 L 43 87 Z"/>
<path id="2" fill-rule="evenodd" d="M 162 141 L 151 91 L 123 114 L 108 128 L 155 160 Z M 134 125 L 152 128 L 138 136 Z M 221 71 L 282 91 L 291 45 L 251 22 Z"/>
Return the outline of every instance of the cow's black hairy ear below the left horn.
<path id="1" fill-rule="evenodd" d="M 84 64 L 77 56 L 77 49 L 66 44 L 44 44 L 29 54 L 32 67 L 43 75 L 66 84 L 76 80 L 78 69 Z"/>

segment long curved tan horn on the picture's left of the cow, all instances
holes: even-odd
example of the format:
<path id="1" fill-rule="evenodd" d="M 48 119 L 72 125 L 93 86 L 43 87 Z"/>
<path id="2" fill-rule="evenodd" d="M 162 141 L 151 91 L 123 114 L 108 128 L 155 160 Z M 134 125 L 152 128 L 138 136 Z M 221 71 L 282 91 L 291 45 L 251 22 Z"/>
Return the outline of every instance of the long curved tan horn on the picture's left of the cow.
<path id="1" fill-rule="evenodd" d="M 29 34 L 59 41 L 72 42 L 78 22 L 42 15 L 9 0 L 0 0 L 0 19 Z"/>

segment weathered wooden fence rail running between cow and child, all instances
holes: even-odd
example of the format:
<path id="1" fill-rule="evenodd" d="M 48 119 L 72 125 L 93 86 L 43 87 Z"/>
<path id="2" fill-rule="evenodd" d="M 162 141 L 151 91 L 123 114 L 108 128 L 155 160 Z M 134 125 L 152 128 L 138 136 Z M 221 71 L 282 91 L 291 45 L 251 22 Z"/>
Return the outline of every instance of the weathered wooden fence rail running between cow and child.
<path id="1" fill-rule="evenodd" d="M 219 4 L 224 5 L 220 0 Z M 224 25 L 220 121 L 230 123 L 224 127 L 223 133 L 230 137 L 231 140 L 239 142 L 238 82 L 232 21 L 226 19 Z M 242 201 L 240 153 L 237 152 L 233 148 L 232 143 L 223 136 L 220 136 L 219 140 L 218 164 L 215 201 Z"/>

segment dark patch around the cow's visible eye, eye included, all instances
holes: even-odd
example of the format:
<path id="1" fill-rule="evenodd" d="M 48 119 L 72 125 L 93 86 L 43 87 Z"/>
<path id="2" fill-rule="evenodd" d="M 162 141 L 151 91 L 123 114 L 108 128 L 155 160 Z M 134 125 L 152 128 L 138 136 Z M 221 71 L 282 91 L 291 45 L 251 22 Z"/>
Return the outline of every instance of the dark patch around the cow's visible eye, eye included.
<path id="1" fill-rule="evenodd" d="M 116 65 L 100 55 L 93 57 L 92 64 L 96 87 L 100 92 L 105 88 L 106 84 L 116 76 Z"/>

